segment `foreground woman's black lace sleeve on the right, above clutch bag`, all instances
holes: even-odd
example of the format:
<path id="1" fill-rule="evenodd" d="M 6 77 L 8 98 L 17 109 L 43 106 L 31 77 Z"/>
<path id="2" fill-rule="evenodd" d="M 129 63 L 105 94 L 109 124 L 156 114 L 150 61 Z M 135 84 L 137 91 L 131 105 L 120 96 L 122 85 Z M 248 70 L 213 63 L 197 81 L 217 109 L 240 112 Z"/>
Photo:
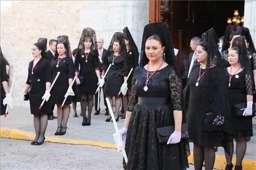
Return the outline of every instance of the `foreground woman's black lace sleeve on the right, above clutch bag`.
<path id="1" fill-rule="evenodd" d="M 182 110 L 182 82 L 181 78 L 177 76 L 174 69 L 172 69 L 169 74 L 169 82 L 173 110 Z"/>

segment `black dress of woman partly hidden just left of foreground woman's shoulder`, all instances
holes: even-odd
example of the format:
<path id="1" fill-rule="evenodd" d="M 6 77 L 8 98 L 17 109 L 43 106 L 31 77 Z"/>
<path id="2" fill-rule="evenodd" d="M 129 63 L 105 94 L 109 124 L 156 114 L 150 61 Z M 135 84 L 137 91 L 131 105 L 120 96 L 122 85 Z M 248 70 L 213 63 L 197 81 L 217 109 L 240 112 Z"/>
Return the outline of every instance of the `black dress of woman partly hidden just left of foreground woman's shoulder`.
<path id="1" fill-rule="evenodd" d="M 129 79 L 127 80 L 127 88 L 128 90 L 131 89 L 132 87 L 132 77 L 133 77 L 133 73 L 136 67 L 138 67 L 138 55 L 137 53 L 135 53 L 134 49 L 130 49 L 126 51 L 126 61 L 127 61 L 127 72 L 129 73 L 131 68 L 133 68 L 133 71 L 129 77 Z"/>

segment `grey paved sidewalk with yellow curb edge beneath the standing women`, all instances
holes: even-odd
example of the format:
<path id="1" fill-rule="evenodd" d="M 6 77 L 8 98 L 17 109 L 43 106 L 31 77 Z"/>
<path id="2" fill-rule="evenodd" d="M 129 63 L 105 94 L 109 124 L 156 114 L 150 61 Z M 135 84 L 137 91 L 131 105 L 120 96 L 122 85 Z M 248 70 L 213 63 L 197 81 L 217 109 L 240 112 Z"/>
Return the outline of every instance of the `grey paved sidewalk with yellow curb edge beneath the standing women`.
<path id="1" fill-rule="evenodd" d="M 78 104 L 80 106 L 80 104 Z M 102 111 L 105 111 L 105 107 L 101 104 Z M 92 121 L 91 126 L 82 126 L 82 116 L 80 116 L 80 108 L 78 108 L 78 117 L 73 117 L 73 110 L 71 108 L 71 113 L 68 121 L 68 129 L 67 133 L 63 136 L 55 136 L 54 133 L 57 129 L 57 119 L 52 121 L 48 121 L 48 126 L 46 130 L 46 139 L 47 141 L 52 142 L 60 142 L 60 143 L 70 143 L 70 144 L 82 144 L 82 145 L 91 145 L 91 146 L 100 146 L 103 148 L 115 148 L 114 140 L 112 134 L 114 133 L 114 127 L 112 122 L 105 122 L 107 116 L 104 115 L 104 112 L 101 112 L 99 115 L 93 115 L 92 113 Z M 10 128 L 10 129 L 18 129 L 18 132 L 21 135 L 27 135 L 29 138 L 25 139 L 33 139 L 34 134 L 34 126 L 33 126 L 33 115 L 30 114 L 30 109 L 27 107 L 14 108 L 9 111 L 10 113 L 7 117 L 1 116 L 1 129 Z M 54 112 L 56 114 L 56 109 Z M 121 128 L 123 126 L 124 120 L 119 119 L 118 126 Z M 22 131 L 20 131 L 22 130 Z M 24 132 L 23 132 L 24 131 Z M 245 155 L 246 161 L 245 164 L 255 165 L 256 160 L 256 125 L 253 125 L 254 136 L 248 142 L 247 152 Z M 27 132 L 27 133 L 26 133 Z M 1 132 L 1 137 L 3 135 L 3 130 Z M 8 136 L 8 135 L 7 135 Z M 17 135 L 16 135 L 17 136 Z M 21 136 L 21 138 L 23 138 Z M 19 136 L 20 137 L 20 136 Z M 18 139 L 20 139 L 18 137 Z M 75 140 L 73 140 L 75 139 Z M 29 143 L 28 143 L 29 145 Z M 49 145 L 49 143 L 47 143 Z M 193 146 L 190 145 L 191 153 L 193 153 Z M 235 156 L 236 152 L 234 152 Z M 215 167 L 222 168 L 224 166 L 224 152 L 222 148 L 219 148 L 219 151 L 216 153 L 216 163 Z M 189 160 L 193 160 L 191 156 L 189 156 Z M 249 162 L 247 161 L 249 160 Z M 193 166 L 193 165 L 191 165 Z M 244 165 L 245 166 L 245 165 Z M 256 165 L 254 166 L 256 167 Z M 255 169 L 255 168 L 252 168 Z"/>

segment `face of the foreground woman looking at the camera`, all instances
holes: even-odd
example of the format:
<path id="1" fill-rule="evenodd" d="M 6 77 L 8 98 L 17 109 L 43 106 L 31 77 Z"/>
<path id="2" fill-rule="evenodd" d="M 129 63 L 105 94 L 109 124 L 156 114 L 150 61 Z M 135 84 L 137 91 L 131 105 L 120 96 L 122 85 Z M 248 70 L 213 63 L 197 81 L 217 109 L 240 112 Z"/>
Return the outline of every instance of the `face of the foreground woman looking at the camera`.
<path id="1" fill-rule="evenodd" d="M 145 44 L 145 53 L 149 61 L 158 61 L 162 59 L 164 47 L 157 40 L 148 40 Z"/>

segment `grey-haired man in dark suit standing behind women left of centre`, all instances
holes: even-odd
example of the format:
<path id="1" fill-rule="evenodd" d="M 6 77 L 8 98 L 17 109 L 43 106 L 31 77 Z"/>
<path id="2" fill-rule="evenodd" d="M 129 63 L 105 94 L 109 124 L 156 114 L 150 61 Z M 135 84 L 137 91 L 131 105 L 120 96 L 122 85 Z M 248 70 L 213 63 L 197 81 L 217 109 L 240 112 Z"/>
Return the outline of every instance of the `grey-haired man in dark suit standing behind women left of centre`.
<path id="1" fill-rule="evenodd" d="M 99 72 L 100 72 L 100 75 L 102 73 L 102 70 L 103 70 L 103 64 L 104 64 L 104 58 L 106 57 L 106 53 L 107 53 L 107 50 L 105 48 L 103 48 L 103 45 L 104 45 L 104 39 L 99 37 L 97 38 L 97 46 L 98 46 L 98 53 L 99 53 Z M 100 88 L 101 90 L 101 88 Z M 102 90 L 103 91 L 103 90 Z M 95 101 L 94 101 L 94 107 L 95 107 L 95 113 L 94 115 L 98 115 L 99 114 L 99 111 L 100 111 L 100 108 L 99 110 L 98 109 L 98 93 L 95 95 Z M 107 102 L 106 102 L 106 96 L 104 95 L 104 104 L 106 106 L 106 113 L 105 115 L 108 115 L 108 107 L 107 107 Z"/>

